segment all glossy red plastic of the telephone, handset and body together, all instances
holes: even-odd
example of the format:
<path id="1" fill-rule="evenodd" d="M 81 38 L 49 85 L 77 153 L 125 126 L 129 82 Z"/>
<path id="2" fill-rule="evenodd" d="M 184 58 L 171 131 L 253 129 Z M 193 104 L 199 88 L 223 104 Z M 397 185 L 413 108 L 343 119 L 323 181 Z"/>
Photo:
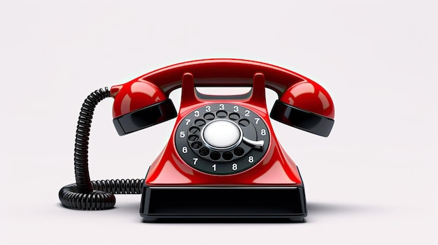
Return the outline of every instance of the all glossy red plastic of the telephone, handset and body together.
<path id="1" fill-rule="evenodd" d="M 267 125 L 270 144 L 262 160 L 252 168 L 234 175 L 210 175 L 191 168 L 178 155 L 174 135 L 178 124 L 190 112 L 215 97 L 199 98 L 195 87 L 252 87 L 248 96 L 226 98 L 253 110 Z M 325 117 L 334 117 L 330 95 L 316 82 L 270 64 L 243 59 L 204 59 L 188 61 L 154 70 L 136 79 L 111 87 L 115 98 L 113 117 L 153 105 L 182 87 L 181 107 L 167 146 L 150 166 L 145 182 L 148 186 L 300 186 L 302 180 L 295 163 L 283 151 L 266 108 L 265 87 L 276 91 L 283 103 Z"/>

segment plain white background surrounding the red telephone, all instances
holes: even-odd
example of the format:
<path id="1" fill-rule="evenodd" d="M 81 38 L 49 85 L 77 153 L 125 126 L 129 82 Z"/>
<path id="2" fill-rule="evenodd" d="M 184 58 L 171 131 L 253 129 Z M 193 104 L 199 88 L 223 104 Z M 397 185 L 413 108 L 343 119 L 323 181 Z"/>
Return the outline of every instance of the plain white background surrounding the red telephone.
<path id="1" fill-rule="evenodd" d="M 0 244 L 436 244 L 436 10 L 434 1 L 1 1 Z M 118 195 L 107 211 L 61 207 L 90 92 L 214 57 L 282 66 L 331 94 L 329 138 L 273 122 L 306 182 L 306 223 L 142 223 L 140 195 Z M 269 107 L 275 99 L 268 91 Z M 112 101 L 95 112 L 91 177 L 142 178 L 175 120 L 119 137 Z"/>

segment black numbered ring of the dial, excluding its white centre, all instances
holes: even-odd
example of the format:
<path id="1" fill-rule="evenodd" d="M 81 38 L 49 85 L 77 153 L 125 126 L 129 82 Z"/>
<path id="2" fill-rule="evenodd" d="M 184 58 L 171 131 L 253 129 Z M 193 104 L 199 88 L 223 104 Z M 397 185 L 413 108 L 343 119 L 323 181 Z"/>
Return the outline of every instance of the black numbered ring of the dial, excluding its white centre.
<path id="1" fill-rule="evenodd" d="M 214 120 L 232 121 L 241 128 L 243 138 L 263 140 L 254 147 L 242 140 L 232 149 L 213 149 L 202 140 L 202 129 Z M 233 175 L 260 162 L 269 147 L 269 130 L 258 114 L 241 105 L 212 103 L 198 107 L 184 117 L 176 128 L 175 145 L 183 161 L 212 175 Z"/>

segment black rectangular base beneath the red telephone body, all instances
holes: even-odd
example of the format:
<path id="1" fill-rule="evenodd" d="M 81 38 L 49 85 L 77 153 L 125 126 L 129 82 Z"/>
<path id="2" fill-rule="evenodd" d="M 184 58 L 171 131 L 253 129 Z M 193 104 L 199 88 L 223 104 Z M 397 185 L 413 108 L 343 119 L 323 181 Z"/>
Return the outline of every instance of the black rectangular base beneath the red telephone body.
<path id="1" fill-rule="evenodd" d="M 146 222 L 187 218 L 288 218 L 307 216 L 304 186 L 143 186 L 140 215 Z"/>

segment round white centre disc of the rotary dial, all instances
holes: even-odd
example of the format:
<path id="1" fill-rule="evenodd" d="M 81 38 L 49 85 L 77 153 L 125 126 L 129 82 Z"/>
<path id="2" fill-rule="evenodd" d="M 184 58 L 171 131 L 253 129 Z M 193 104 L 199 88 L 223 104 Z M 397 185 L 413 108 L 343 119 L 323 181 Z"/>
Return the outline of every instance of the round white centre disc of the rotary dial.
<path id="1" fill-rule="evenodd" d="M 213 149 L 229 149 L 242 140 L 242 131 L 234 122 L 224 119 L 211 121 L 202 129 L 202 140 Z"/>

